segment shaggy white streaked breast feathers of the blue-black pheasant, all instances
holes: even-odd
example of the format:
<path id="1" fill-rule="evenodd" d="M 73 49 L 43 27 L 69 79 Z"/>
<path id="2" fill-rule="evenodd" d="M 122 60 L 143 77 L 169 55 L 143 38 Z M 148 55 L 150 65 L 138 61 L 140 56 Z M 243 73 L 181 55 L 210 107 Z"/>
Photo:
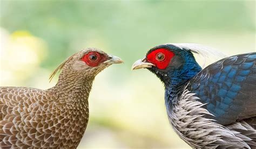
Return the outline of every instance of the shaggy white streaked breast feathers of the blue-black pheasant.
<path id="1" fill-rule="evenodd" d="M 246 122 L 237 122 L 225 127 L 215 123 L 213 119 L 205 118 L 204 115 L 211 113 L 204 109 L 204 104 L 187 89 L 183 91 L 177 103 L 171 104 L 170 100 L 167 100 L 165 104 L 166 107 L 172 107 L 167 108 L 167 113 L 174 131 L 191 147 L 250 148 L 246 143 L 250 138 L 237 131 L 252 130 L 250 125 Z"/>

